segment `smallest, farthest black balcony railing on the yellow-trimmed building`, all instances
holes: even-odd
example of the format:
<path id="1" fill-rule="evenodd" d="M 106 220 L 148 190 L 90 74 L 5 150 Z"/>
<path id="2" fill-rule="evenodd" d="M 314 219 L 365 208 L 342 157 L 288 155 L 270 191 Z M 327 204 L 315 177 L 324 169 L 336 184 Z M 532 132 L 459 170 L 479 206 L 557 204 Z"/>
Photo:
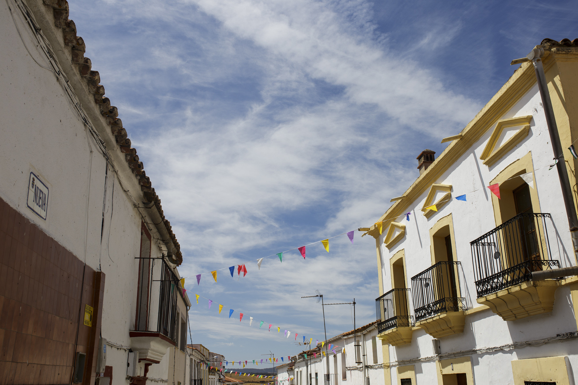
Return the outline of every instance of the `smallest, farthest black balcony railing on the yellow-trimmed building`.
<path id="1" fill-rule="evenodd" d="M 413 326 L 413 316 L 409 315 L 407 296 L 409 289 L 391 289 L 375 299 L 377 332 L 382 333 L 395 327 Z"/>

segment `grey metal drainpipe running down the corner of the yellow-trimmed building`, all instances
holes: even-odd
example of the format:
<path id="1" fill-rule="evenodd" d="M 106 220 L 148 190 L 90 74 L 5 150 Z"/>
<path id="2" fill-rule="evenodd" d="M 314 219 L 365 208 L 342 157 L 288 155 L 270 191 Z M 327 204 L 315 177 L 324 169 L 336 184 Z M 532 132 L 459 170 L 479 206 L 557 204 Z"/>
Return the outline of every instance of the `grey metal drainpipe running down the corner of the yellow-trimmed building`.
<path id="1" fill-rule="evenodd" d="M 534 66 L 536 72 L 536 80 L 538 89 L 540 90 L 540 97 L 542 97 L 542 104 L 544 106 L 544 115 L 546 116 L 546 123 L 548 131 L 550 132 L 550 140 L 552 142 L 552 149 L 554 151 L 554 158 L 558 160 L 556 169 L 558 170 L 558 177 L 562 187 L 562 197 L 564 197 L 564 205 L 566 206 L 566 214 L 568 215 L 568 225 L 570 227 L 570 236 L 572 236 L 572 246 L 574 249 L 574 257 L 578 262 L 578 218 L 576 216 L 576 206 L 572 197 L 572 187 L 570 187 L 570 179 L 568 177 L 568 169 L 564 161 L 564 153 L 562 152 L 562 144 L 560 143 L 560 134 L 558 133 L 558 126 L 554 117 L 554 109 L 552 108 L 552 101 L 550 99 L 550 92 L 546 83 L 546 75 L 544 75 L 544 67 L 542 66 L 542 57 L 544 57 L 544 49 L 536 47 L 527 55 Z"/>

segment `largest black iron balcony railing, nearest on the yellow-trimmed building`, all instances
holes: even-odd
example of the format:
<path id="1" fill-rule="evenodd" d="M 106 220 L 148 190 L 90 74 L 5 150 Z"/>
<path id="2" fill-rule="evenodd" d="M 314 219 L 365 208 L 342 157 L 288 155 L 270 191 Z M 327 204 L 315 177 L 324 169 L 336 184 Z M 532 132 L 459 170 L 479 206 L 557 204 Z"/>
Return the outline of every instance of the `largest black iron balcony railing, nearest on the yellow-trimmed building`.
<path id="1" fill-rule="evenodd" d="M 560 267 L 552 260 L 548 213 L 522 213 L 470 242 L 477 297 L 527 282 L 532 272 Z"/>

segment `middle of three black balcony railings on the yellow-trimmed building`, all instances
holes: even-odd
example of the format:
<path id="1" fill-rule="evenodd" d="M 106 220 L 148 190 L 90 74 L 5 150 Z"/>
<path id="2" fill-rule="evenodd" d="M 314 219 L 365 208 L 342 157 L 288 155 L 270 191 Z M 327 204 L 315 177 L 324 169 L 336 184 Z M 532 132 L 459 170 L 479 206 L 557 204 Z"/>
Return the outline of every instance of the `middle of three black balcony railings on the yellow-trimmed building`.
<path id="1" fill-rule="evenodd" d="M 460 262 L 441 261 L 412 277 L 416 321 L 436 314 L 465 310 L 465 298 L 458 297 L 456 267 Z"/>

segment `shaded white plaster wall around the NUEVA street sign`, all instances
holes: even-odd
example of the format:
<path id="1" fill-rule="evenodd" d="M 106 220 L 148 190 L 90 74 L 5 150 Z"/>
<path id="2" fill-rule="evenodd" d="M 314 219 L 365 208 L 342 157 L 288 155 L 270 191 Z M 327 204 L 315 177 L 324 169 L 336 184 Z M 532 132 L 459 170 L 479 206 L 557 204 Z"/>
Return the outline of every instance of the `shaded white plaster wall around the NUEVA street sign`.
<path id="1" fill-rule="evenodd" d="M 50 21 L 51 9 L 43 9 L 42 2 L 31 2 L 30 6 L 47 37 L 61 36 Z M 88 138 L 79 115 L 54 72 L 47 69 L 49 62 L 16 9 L 14 16 L 16 23 L 8 3 L 0 3 L 0 197 L 92 269 L 105 273 L 102 337 L 114 345 L 128 347 L 138 286 L 139 260 L 135 257 L 139 257 L 142 215 L 134 203 L 142 201 L 138 199 L 140 187 L 124 163 L 124 154 L 116 147 L 110 147 L 111 161 L 119 175 L 109 167 L 105 186 L 105 158 Z M 52 43 L 58 49 L 58 41 Z M 66 55 L 63 52 L 60 50 L 59 54 Z M 62 66 L 70 68 L 69 57 L 64 59 Z M 84 89 L 78 76 L 69 73 L 68 77 L 75 89 Z M 86 100 L 92 95 L 79 98 Z M 94 107 L 86 105 L 89 116 L 94 118 L 92 123 L 110 142 L 109 128 L 98 118 L 97 111 L 90 110 Z M 30 172 L 49 187 L 46 220 L 27 208 Z M 149 230 L 153 236 L 151 257 L 160 257 L 161 249 L 166 247 L 154 240 L 161 238 L 155 228 L 150 226 Z M 122 347 L 108 349 L 107 364 L 113 366 L 114 384 L 128 383 L 127 354 Z M 165 355 L 161 364 L 151 365 L 149 376 L 166 380 L 167 360 Z"/>

